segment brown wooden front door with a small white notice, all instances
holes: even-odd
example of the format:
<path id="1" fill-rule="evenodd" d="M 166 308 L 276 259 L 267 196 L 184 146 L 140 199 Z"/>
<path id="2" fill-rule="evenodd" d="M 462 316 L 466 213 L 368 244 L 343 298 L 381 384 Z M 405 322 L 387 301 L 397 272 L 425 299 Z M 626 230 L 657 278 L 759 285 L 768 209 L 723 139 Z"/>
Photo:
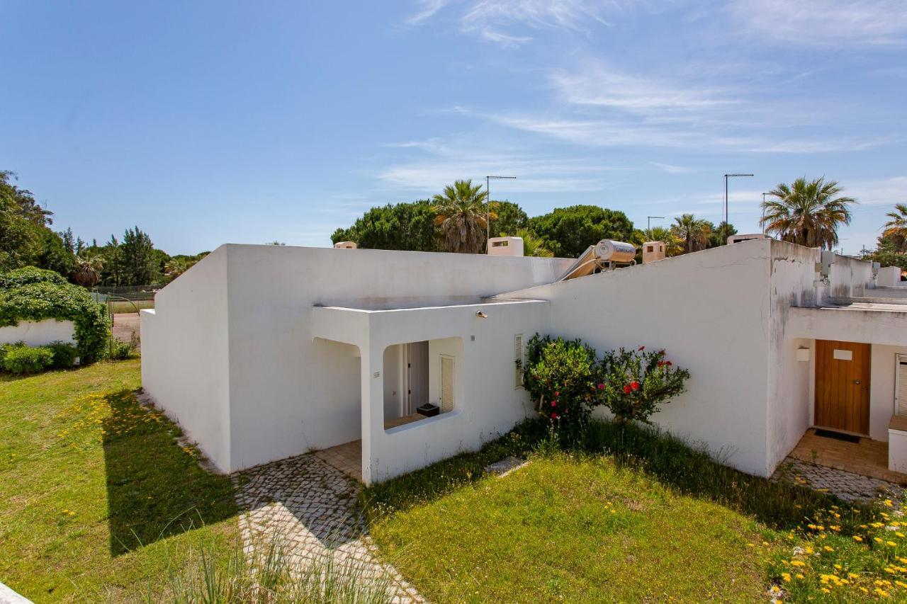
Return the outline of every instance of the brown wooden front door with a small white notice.
<path id="1" fill-rule="evenodd" d="M 815 425 L 869 434 L 870 347 L 815 341 Z"/>

